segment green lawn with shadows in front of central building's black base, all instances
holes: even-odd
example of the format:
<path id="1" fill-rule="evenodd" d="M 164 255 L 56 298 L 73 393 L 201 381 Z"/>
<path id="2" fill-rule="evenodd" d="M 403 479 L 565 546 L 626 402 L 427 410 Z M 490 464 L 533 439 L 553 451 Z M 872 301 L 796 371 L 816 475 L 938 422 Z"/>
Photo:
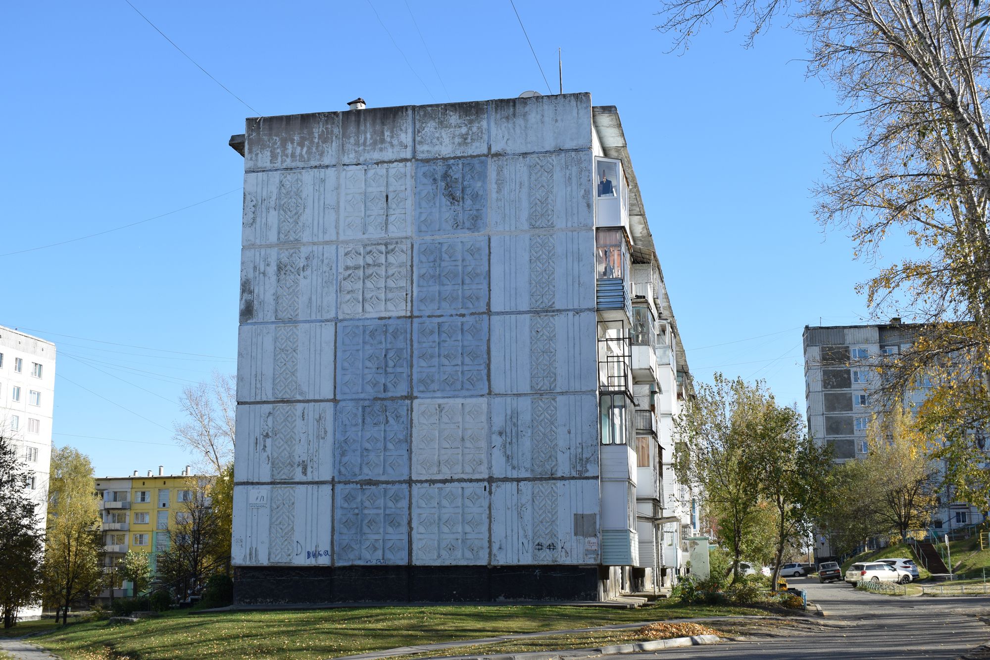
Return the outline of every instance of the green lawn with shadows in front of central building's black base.
<path id="1" fill-rule="evenodd" d="M 316 660 L 397 646 L 473 639 L 513 632 L 612 623 L 761 614 L 731 605 L 680 605 L 663 600 L 639 609 L 563 605 L 347 607 L 189 614 L 170 612 L 130 625 L 79 623 L 32 641 L 66 660 Z"/>

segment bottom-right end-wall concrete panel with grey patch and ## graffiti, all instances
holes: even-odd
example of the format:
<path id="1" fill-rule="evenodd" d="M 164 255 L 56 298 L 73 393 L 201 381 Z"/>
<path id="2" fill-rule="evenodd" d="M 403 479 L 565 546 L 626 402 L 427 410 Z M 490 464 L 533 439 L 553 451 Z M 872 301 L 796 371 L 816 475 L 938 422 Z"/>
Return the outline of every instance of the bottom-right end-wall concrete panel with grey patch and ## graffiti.
<path id="1" fill-rule="evenodd" d="M 598 480 L 501 482 L 492 490 L 492 564 L 597 564 Z"/>

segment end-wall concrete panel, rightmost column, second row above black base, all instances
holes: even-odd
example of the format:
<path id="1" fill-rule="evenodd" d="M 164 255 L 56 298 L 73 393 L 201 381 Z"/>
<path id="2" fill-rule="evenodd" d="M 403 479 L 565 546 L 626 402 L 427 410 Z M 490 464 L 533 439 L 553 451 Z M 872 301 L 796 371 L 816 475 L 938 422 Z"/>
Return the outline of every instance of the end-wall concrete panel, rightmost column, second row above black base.
<path id="1" fill-rule="evenodd" d="M 594 477 L 595 394 L 494 396 L 490 445 L 495 477 Z"/>

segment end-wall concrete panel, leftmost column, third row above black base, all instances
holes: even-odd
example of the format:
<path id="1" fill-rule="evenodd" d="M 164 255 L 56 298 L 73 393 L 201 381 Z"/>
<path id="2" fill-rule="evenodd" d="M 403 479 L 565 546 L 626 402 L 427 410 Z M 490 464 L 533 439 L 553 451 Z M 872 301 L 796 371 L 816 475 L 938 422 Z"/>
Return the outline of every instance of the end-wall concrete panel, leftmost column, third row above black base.
<path id="1" fill-rule="evenodd" d="M 242 325 L 238 400 L 334 397 L 334 323 Z"/>

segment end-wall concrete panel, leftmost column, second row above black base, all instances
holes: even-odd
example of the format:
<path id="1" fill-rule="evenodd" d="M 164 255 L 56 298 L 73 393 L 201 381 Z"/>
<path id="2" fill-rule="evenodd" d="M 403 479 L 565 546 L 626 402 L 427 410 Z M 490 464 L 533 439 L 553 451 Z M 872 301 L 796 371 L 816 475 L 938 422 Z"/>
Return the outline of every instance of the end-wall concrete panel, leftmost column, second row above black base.
<path id="1" fill-rule="evenodd" d="M 241 405 L 237 412 L 240 481 L 329 481 L 334 475 L 333 403 Z"/>

